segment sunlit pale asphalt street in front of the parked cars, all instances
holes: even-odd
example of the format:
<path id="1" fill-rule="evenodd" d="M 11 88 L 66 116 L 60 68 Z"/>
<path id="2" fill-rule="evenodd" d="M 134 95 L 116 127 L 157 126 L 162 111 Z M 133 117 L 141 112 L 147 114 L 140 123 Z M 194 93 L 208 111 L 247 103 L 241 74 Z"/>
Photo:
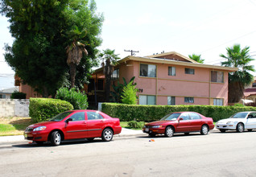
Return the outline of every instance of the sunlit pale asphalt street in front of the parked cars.
<path id="1" fill-rule="evenodd" d="M 255 176 L 256 131 L 0 144 L 0 176 Z"/>

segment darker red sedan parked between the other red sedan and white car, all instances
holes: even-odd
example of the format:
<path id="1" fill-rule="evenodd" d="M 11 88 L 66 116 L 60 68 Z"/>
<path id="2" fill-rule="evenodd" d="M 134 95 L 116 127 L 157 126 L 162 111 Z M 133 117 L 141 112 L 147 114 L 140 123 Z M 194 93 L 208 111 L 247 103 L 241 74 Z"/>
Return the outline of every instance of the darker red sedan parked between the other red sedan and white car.
<path id="1" fill-rule="evenodd" d="M 155 134 L 172 137 L 175 133 L 189 134 L 190 132 L 200 132 L 205 135 L 213 128 L 213 118 L 211 117 L 204 117 L 195 112 L 176 112 L 167 114 L 160 121 L 147 123 L 142 131 L 151 137 L 154 137 Z"/>

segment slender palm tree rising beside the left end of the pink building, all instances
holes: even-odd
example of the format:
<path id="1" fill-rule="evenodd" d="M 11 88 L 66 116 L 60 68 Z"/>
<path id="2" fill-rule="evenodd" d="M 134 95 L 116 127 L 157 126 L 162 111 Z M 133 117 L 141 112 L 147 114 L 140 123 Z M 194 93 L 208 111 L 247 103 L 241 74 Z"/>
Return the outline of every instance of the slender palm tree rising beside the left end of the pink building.
<path id="1" fill-rule="evenodd" d="M 109 102 L 111 75 L 114 71 L 114 64 L 116 64 L 117 60 L 120 58 L 118 54 L 114 53 L 114 50 L 110 50 L 109 48 L 103 50 L 99 57 L 102 60 L 101 66 L 105 74 L 105 100 Z"/>

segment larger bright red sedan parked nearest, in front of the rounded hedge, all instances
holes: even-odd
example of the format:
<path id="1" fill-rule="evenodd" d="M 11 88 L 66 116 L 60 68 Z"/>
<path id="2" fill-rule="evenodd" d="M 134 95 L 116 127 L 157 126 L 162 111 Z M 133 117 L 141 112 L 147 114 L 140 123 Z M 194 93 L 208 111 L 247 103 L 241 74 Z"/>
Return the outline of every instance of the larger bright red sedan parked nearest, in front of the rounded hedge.
<path id="1" fill-rule="evenodd" d="M 118 118 L 94 110 L 71 110 L 60 113 L 49 121 L 28 126 L 24 132 L 27 140 L 37 144 L 50 141 L 53 146 L 67 139 L 101 138 L 109 142 L 114 134 L 120 134 L 122 127 Z"/>

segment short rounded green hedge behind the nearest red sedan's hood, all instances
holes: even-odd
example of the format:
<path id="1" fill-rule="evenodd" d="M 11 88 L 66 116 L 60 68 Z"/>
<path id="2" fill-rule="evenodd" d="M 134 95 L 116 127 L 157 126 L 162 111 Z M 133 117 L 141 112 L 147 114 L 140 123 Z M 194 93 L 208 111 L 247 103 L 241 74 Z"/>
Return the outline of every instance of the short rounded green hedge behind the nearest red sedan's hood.
<path id="1" fill-rule="evenodd" d="M 30 98 L 29 116 L 33 122 L 47 121 L 57 114 L 72 110 L 73 106 L 68 101 L 52 98 Z"/>

